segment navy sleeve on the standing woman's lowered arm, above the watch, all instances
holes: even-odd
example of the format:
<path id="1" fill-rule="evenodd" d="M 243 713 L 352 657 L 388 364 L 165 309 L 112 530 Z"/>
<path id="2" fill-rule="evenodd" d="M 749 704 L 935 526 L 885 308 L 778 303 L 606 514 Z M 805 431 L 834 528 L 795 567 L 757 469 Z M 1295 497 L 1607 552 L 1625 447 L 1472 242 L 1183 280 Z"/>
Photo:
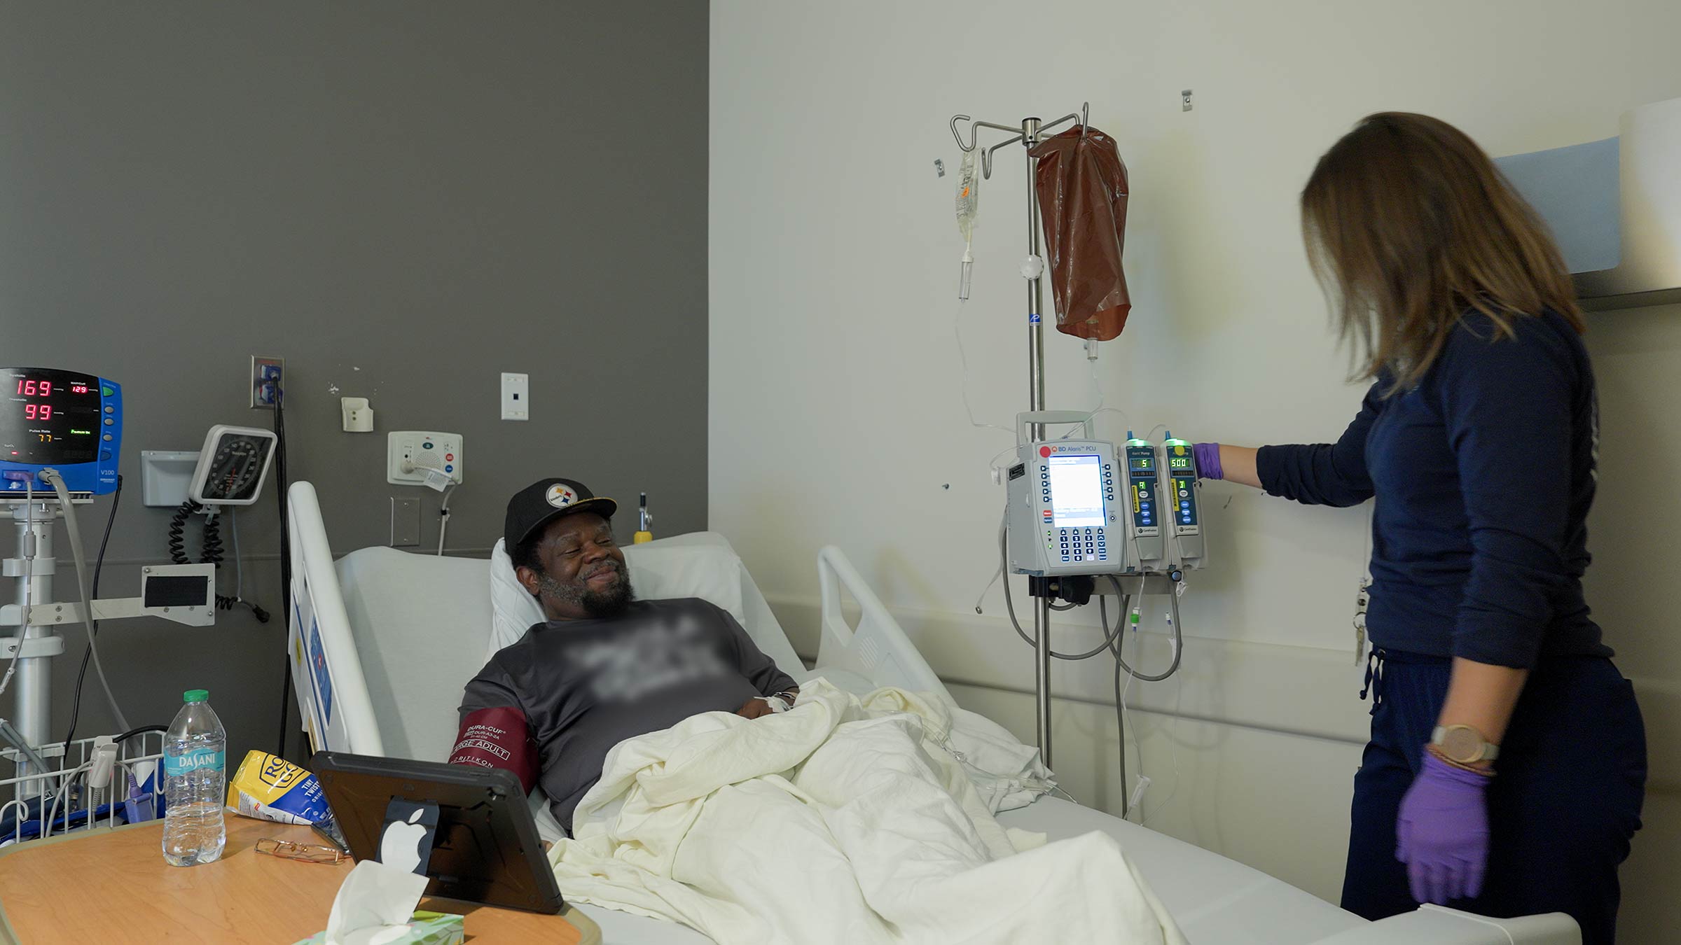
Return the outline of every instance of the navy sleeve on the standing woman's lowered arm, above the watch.
<path id="1" fill-rule="evenodd" d="M 1578 368 L 1538 319 L 1489 340 L 1484 319 L 1442 351 L 1442 415 L 1471 530 L 1471 577 L 1454 624 L 1454 656 L 1530 668 L 1575 580 L 1570 535 L 1572 437 Z"/>

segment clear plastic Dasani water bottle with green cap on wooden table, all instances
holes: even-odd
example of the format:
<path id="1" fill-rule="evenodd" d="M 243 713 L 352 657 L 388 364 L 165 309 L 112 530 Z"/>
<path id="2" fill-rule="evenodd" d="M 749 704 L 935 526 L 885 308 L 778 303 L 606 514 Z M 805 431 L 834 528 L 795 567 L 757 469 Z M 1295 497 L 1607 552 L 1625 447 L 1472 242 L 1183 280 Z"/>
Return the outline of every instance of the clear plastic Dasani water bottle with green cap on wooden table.
<path id="1" fill-rule="evenodd" d="M 227 731 L 210 708 L 210 693 L 182 694 L 163 736 L 163 859 L 170 866 L 215 863 L 227 842 L 222 804 L 227 794 Z"/>

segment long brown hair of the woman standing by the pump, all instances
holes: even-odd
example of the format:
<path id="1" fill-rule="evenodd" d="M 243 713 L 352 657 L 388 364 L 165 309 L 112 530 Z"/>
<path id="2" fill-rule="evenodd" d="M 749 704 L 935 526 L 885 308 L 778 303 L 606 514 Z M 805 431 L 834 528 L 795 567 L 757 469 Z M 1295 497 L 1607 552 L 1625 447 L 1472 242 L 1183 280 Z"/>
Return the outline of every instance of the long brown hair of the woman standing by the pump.
<path id="1" fill-rule="evenodd" d="M 1501 335 L 1543 309 L 1585 328 L 1552 234 L 1469 136 L 1424 114 L 1370 114 L 1301 192 L 1308 259 L 1355 375 L 1419 383 L 1468 309 Z"/>

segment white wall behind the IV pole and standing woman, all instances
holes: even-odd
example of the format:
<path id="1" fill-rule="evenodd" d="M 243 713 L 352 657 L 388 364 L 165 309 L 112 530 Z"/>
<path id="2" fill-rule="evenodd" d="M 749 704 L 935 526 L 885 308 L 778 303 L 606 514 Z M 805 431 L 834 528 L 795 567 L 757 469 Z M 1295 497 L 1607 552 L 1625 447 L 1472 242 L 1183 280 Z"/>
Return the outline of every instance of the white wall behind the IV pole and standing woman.
<path id="1" fill-rule="evenodd" d="M 1014 124 L 1093 104 L 1131 172 L 1133 323 L 1104 345 L 1106 404 L 1188 439 L 1335 437 L 1360 390 L 1326 333 L 1298 235 L 1315 158 L 1365 113 L 1437 114 L 1491 153 L 1605 138 L 1620 111 L 1681 96 L 1673 0 L 1281 3 L 713 3 L 711 525 L 788 624 L 840 545 L 956 693 L 1032 738 L 1029 651 L 973 602 L 997 565 L 1010 439 L 972 429 L 953 345 L 962 240 L 953 113 Z M 1180 89 L 1195 109 L 1180 111 Z M 962 311 L 978 419 L 1025 407 L 1024 163 L 982 190 Z M 1592 318 L 1609 444 L 1590 595 L 1641 686 L 1654 792 L 1624 871 L 1627 940 L 1681 921 L 1681 642 L 1664 565 L 1681 511 L 1681 308 Z M 1078 341 L 1052 335 L 1051 407 L 1096 402 Z M 1099 429 L 1120 437 L 1106 414 Z M 1620 437 L 1619 437 L 1620 434 Z M 1642 491 L 1644 489 L 1644 491 Z M 1646 501 L 1642 501 L 1642 498 Z M 1183 674 L 1128 701 L 1150 824 L 1336 898 L 1355 698 L 1353 585 L 1365 509 L 1308 509 L 1212 484 L 1214 565 L 1183 600 Z M 1025 614 L 1025 612 L 1024 612 Z M 1062 649 L 1089 646 L 1069 615 Z M 1076 626 L 1076 624 L 1086 626 Z M 1160 626 L 1160 624 L 1158 624 Z M 1155 661 L 1165 651 L 1146 654 Z M 1057 666 L 1056 767 L 1120 807 L 1109 668 Z M 1136 770 L 1136 760 L 1131 762 Z M 1175 767 L 1178 775 L 1175 777 Z M 1177 782 L 1177 787 L 1175 787 Z"/>

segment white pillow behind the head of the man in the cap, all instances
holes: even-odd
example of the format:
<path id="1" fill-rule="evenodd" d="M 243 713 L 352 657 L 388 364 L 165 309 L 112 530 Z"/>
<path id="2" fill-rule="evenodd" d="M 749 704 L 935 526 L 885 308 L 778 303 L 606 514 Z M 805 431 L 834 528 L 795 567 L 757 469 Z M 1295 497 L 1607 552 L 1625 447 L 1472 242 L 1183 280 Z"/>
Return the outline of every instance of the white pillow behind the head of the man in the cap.
<path id="1" fill-rule="evenodd" d="M 630 567 L 630 587 L 639 600 L 667 600 L 672 597 L 699 597 L 723 607 L 743 627 L 746 609 L 741 605 L 741 558 L 721 545 L 666 545 L 649 541 L 624 550 Z M 526 594 L 514 577 L 513 558 L 496 540 L 491 550 L 491 641 L 484 657 L 519 641 L 531 624 L 543 622 L 543 607 Z"/>

